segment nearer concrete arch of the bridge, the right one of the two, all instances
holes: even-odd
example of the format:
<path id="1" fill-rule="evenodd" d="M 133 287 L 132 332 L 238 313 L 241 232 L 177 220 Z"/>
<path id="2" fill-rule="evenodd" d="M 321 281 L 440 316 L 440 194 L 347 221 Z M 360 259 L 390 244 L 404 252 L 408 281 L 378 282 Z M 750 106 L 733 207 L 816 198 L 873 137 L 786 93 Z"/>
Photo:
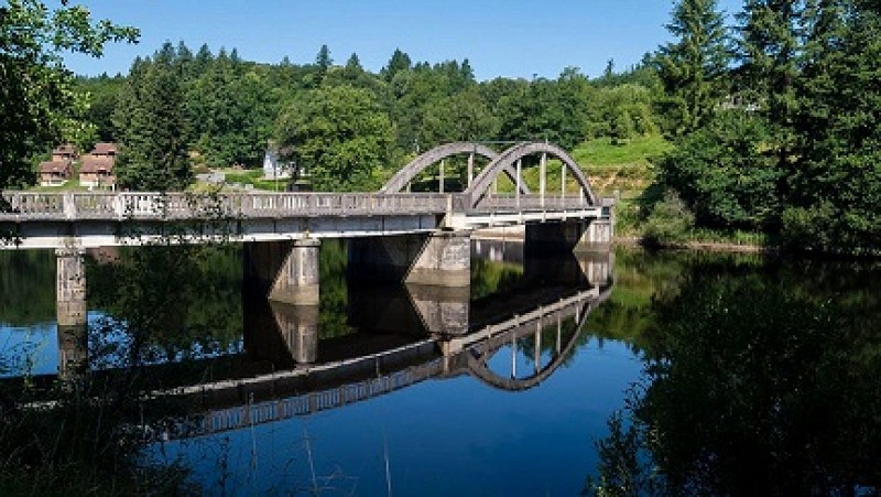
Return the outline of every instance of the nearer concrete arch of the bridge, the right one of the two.
<path id="1" fill-rule="evenodd" d="M 578 163 L 575 162 L 575 159 L 566 153 L 565 150 L 555 144 L 536 141 L 515 144 L 493 159 L 492 162 L 490 162 L 489 165 L 487 165 L 483 171 L 478 174 L 474 183 L 471 183 L 471 185 L 465 191 L 465 194 L 468 198 L 468 207 L 477 207 L 477 204 L 479 204 L 485 197 L 488 188 L 492 184 L 492 181 L 499 175 L 500 172 L 508 172 L 509 170 L 512 170 L 514 164 L 516 164 L 516 161 L 536 153 L 545 153 L 563 162 L 565 168 L 572 173 L 573 177 L 578 183 L 578 186 L 580 186 L 580 188 L 584 191 L 588 205 L 599 205 L 597 196 L 590 188 L 587 177 L 578 166 Z M 516 177 L 515 172 L 513 177 Z"/>

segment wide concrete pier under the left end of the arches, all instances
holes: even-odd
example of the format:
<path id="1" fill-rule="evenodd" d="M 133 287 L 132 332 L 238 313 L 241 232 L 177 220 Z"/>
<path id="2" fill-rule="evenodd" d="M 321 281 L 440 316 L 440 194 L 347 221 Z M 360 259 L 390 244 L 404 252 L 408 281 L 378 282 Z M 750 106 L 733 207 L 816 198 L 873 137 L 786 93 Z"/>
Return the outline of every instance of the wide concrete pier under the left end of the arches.
<path id="1" fill-rule="evenodd" d="M 436 287 L 471 282 L 470 231 L 357 238 L 349 248 L 354 274 Z"/>

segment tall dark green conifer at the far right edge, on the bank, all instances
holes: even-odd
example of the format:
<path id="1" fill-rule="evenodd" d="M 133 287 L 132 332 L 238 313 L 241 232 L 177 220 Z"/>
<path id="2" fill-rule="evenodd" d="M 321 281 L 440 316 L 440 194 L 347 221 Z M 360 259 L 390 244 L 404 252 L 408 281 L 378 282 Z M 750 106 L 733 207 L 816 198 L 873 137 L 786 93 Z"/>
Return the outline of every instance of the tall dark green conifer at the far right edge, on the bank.
<path id="1" fill-rule="evenodd" d="M 818 6 L 802 77 L 797 162 L 784 236 L 800 248 L 881 247 L 881 12 Z M 816 43 L 812 43 L 816 42 Z M 816 47 L 816 48 L 814 48 Z"/>

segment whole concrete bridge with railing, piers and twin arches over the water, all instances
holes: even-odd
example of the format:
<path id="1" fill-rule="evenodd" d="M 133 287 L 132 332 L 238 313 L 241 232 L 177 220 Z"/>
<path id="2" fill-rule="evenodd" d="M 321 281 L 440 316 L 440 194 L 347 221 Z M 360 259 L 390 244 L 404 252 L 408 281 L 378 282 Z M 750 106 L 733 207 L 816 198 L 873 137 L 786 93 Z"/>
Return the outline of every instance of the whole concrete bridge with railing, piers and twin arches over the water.
<path id="1" fill-rule="evenodd" d="M 467 159 L 461 191 L 447 192 L 446 161 Z M 559 166 L 548 186 L 550 160 Z M 485 165 L 480 166 L 481 161 Z M 539 188 L 524 168 L 539 169 Z M 436 192 L 410 185 L 437 168 Z M 505 176 L 512 193 L 499 193 Z M 572 187 L 574 185 L 574 188 Z M 572 191 L 575 191 L 573 193 Z M 323 238 L 352 239 L 350 267 L 377 279 L 446 288 L 470 282 L 470 239 L 482 228 L 524 226 L 527 251 L 608 248 L 613 199 L 598 197 L 563 149 L 522 142 L 496 152 L 479 143 L 432 149 L 373 193 L 32 193 L 4 192 L 0 249 L 53 248 L 58 323 L 86 318 L 84 250 L 106 246 L 243 242 L 246 272 L 271 300 L 318 300 Z"/>

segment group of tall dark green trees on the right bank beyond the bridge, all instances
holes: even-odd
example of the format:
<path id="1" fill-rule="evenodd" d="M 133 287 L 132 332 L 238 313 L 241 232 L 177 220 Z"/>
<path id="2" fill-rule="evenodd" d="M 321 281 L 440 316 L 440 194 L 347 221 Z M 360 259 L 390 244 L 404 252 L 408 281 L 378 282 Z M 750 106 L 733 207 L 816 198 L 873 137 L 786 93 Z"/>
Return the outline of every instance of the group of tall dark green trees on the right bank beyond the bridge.
<path id="1" fill-rule="evenodd" d="M 881 3 L 678 2 L 656 56 L 675 150 L 645 204 L 660 236 L 760 230 L 824 251 L 881 248 Z M 657 203 L 666 190 L 664 199 Z M 684 223 L 683 219 L 686 219 Z"/>

